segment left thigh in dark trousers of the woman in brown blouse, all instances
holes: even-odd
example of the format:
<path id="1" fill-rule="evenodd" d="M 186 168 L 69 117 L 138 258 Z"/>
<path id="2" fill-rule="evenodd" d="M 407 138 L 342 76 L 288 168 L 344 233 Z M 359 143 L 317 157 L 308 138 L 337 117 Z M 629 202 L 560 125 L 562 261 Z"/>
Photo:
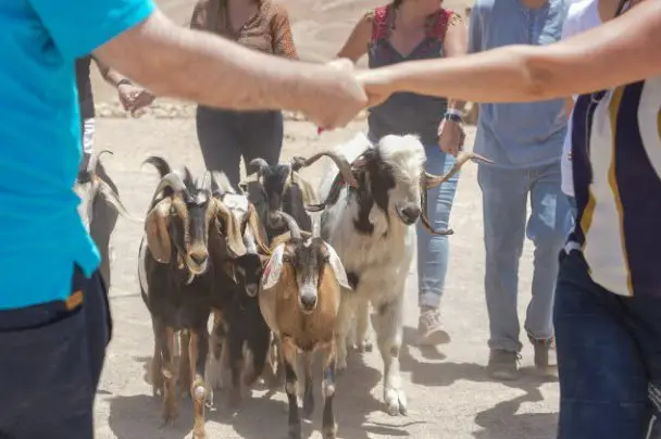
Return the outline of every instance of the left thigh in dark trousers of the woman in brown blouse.
<path id="1" fill-rule="evenodd" d="M 235 137 L 235 113 L 198 106 L 196 128 L 204 166 L 209 171 L 224 172 L 234 186 L 240 178 L 240 149 Z"/>

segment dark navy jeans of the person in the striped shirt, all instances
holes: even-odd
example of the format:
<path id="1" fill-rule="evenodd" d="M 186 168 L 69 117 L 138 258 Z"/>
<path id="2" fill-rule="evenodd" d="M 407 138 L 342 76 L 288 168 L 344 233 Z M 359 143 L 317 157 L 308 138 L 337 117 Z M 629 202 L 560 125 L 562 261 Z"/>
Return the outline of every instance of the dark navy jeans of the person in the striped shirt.
<path id="1" fill-rule="evenodd" d="M 622 297 L 595 284 L 578 251 L 561 252 L 553 323 L 559 439 L 661 437 L 661 297 Z M 648 436 L 649 435 L 649 436 Z"/>

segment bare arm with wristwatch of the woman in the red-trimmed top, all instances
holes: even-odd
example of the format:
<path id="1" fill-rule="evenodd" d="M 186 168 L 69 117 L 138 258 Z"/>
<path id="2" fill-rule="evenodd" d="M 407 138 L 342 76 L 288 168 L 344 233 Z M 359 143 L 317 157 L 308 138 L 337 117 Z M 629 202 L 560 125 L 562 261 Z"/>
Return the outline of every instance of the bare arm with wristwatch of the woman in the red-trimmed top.
<path id="1" fill-rule="evenodd" d="M 450 17 L 448 30 L 444 40 L 445 57 L 462 57 L 466 54 L 466 28 L 461 15 L 453 13 Z M 465 134 L 461 126 L 461 114 L 465 101 L 448 99 L 448 114 L 451 118 L 444 118 L 438 126 L 438 145 L 440 149 L 454 156 L 459 154 Z"/>

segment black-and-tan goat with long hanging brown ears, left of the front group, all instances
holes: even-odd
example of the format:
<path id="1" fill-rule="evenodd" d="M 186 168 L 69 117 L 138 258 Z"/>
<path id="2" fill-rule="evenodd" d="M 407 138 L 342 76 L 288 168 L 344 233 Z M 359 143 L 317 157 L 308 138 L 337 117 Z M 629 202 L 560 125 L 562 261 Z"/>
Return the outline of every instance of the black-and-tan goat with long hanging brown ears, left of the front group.
<path id="1" fill-rule="evenodd" d="M 233 258 L 246 254 L 246 248 L 240 224 L 212 196 L 211 173 L 194 183 L 186 167 L 182 177 L 161 158 L 151 156 L 146 163 L 154 165 L 161 175 L 149 204 L 138 264 L 140 291 L 154 334 L 153 392 L 161 391 L 164 423 L 172 424 L 177 417 L 174 351 L 177 331 L 186 330 L 186 341 L 180 343 L 182 367 L 177 369 L 184 382 L 190 381 L 192 437 L 202 439 L 208 393 L 203 378 L 209 351 L 207 325 L 212 306 L 217 306 L 213 297 L 217 269 L 209 258 L 209 242 Z"/>

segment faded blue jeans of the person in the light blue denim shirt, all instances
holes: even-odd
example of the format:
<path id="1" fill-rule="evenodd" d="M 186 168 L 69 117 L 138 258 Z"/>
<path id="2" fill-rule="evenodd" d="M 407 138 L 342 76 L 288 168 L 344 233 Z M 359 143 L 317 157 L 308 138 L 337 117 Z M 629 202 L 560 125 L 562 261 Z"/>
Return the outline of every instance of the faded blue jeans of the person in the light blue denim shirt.
<path id="1" fill-rule="evenodd" d="M 519 352 L 522 348 L 516 312 L 519 260 L 525 236 L 535 244 L 535 261 L 524 327 L 534 339 L 553 336 L 558 252 L 569 231 L 569 205 L 560 189 L 560 163 L 525 170 L 481 164 L 477 179 L 484 206 L 488 344 L 491 349 Z M 528 197 L 532 213 L 526 224 Z"/>

